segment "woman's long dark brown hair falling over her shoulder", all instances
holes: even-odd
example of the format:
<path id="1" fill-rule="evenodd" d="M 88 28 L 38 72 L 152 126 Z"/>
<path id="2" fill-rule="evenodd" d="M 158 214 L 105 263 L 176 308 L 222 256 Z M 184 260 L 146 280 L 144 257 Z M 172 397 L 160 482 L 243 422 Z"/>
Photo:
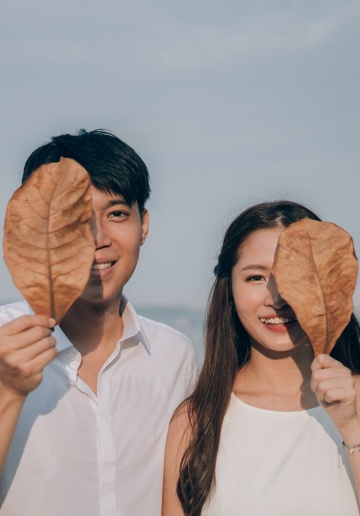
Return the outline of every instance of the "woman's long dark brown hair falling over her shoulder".
<path id="1" fill-rule="evenodd" d="M 195 390 L 186 400 L 191 438 L 181 461 L 177 485 L 186 516 L 201 515 L 215 486 L 221 428 L 235 376 L 250 358 L 249 338 L 233 303 L 232 269 L 251 233 L 259 229 L 287 227 L 305 217 L 320 220 L 298 203 L 261 203 L 241 213 L 225 233 L 206 313 L 204 364 Z M 360 328 L 355 316 L 352 316 L 331 354 L 354 373 L 360 373 Z"/>

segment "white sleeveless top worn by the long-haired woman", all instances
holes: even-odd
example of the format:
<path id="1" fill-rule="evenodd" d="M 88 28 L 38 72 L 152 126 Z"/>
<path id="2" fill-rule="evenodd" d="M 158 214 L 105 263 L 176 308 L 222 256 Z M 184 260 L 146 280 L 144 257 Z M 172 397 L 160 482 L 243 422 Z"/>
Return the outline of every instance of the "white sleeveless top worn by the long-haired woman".
<path id="1" fill-rule="evenodd" d="M 203 516 L 358 516 L 341 437 L 321 407 L 255 408 L 234 394 Z"/>

